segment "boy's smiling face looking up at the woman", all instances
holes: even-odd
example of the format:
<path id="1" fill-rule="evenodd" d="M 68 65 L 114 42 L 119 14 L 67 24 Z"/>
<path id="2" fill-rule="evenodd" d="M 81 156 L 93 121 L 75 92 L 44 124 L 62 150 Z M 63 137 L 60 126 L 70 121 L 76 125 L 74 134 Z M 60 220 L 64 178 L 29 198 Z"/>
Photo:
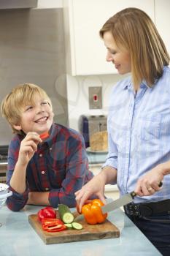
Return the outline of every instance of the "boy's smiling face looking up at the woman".
<path id="1" fill-rule="evenodd" d="M 37 132 L 39 135 L 48 132 L 53 124 L 53 109 L 47 99 L 43 99 L 40 94 L 34 95 L 34 101 L 30 105 L 23 107 L 20 124 L 15 125 L 15 129 L 28 132 Z"/>

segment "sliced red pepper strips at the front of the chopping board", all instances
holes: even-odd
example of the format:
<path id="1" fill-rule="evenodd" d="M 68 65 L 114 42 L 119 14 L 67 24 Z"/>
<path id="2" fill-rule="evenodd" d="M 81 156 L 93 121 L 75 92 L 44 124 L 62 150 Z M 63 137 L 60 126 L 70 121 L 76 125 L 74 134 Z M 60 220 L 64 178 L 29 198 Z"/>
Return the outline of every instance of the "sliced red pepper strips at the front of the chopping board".
<path id="1" fill-rule="evenodd" d="M 61 219 L 42 219 L 42 229 L 47 232 L 59 232 L 66 230 L 66 226 Z"/>

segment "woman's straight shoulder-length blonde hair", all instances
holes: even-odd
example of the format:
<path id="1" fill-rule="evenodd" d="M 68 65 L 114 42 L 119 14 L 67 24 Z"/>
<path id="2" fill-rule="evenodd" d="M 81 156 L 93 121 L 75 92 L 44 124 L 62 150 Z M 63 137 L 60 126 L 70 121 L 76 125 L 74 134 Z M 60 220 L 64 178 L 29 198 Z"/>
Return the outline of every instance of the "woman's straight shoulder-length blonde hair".
<path id="1" fill-rule="evenodd" d="M 131 56 L 134 86 L 146 80 L 152 86 L 169 65 L 169 53 L 150 17 L 137 8 L 127 8 L 109 18 L 99 31 L 101 38 L 110 31 L 118 47 Z"/>

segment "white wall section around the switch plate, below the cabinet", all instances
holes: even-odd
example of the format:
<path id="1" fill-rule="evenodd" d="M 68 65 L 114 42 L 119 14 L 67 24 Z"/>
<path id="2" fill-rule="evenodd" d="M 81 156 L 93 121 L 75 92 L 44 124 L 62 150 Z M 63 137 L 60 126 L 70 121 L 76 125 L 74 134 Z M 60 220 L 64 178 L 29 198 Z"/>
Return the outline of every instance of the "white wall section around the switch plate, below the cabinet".
<path id="1" fill-rule="evenodd" d="M 67 99 L 69 127 L 78 130 L 78 120 L 80 115 L 107 115 L 109 94 L 112 86 L 123 75 L 91 75 L 91 76 L 71 76 L 67 75 Z M 88 87 L 102 86 L 103 108 L 90 110 L 88 104 Z"/>

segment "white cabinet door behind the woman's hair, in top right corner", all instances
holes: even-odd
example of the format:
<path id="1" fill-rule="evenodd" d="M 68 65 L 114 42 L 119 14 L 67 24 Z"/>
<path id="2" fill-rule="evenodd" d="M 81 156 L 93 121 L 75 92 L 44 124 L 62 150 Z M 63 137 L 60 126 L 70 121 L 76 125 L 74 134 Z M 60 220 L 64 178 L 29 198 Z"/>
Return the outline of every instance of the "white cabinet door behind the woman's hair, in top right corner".
<path id="1" fill-rule="evenodd" d="M 155 25 L 170 54 L 169 10 L 170 10 L 169 0 L 155 0 Z"/>

